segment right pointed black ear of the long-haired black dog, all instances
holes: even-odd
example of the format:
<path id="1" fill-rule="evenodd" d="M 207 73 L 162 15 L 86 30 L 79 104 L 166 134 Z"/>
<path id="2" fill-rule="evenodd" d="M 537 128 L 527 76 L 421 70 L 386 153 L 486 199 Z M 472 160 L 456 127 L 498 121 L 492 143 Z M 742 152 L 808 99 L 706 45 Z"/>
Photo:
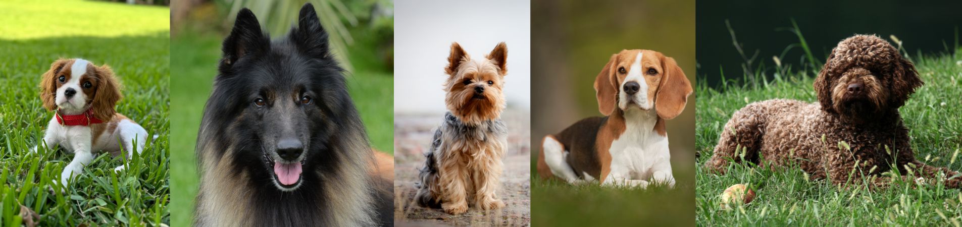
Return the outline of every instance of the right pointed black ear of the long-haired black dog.
<path id="1" fill-rule="evenodd" d="M 317 19 L 317 13 L 311 3 L 301 7 L 300 15 L 297 16 L 297 27 L 291 29 L 290 37 L 301 47 L 299 50 L 308 56 L 320 59 L 331 58 L 327 45 L 327 32 L 320 25 L 320 19 Z"/>

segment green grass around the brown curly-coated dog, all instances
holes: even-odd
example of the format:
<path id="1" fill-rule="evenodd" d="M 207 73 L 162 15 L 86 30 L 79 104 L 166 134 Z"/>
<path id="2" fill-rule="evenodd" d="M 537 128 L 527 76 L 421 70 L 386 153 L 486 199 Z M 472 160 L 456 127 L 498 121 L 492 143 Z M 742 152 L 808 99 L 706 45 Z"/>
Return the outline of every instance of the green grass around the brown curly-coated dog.
<path id="1" fill-rule="evenodd" d="M 936 166 L 962 169 L 955 160 L 962 149 L 962 58 L 914 56 L 925 85 L 899 109 L 909 128 L 916 159 Z M 962 219 L 962 191 L 940 186 L 897 184 L 890 189 L 840 188 L 825 181 L 809 181 L 793 167 L 775 170 L 731 164 L 725 175 L 710 174 L 702 164 L 712 155 L 722 126 L 748 103 L 772 98 L 816 102 L 813 72 L 794 73 L 751 86 L 727 84 L 722 90 L 700 83 L 696 147 L 696 223 L 708 226 L 819 226 L 819 225 L 954 225 Z M 749 184 L 757 197 L 730 211 L 720 207 L 722 190 Z"/>

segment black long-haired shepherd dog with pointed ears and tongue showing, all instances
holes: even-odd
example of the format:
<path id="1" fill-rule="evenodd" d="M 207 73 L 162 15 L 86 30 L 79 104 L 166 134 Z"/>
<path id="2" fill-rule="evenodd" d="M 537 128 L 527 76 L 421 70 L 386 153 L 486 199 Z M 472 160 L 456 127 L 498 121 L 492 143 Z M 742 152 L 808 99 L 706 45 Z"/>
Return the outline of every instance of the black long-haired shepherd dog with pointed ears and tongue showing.
<path id="1" fill-rule="evenodd" d="M 368 144 L 314 7 L 274 40 L 243 9 L 222 51 L 194 225 L 392 226 L 392 158 Z"/>

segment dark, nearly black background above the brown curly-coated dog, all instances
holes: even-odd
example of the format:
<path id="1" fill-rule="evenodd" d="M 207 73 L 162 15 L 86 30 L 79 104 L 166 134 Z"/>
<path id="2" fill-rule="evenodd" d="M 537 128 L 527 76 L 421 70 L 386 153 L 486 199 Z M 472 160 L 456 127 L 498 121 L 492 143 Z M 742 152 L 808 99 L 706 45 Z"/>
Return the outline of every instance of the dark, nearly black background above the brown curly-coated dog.
<path id="1" fill-rule="evenodd" d="M 950 52 L 962 24 L 962 1 L 954 0 L 697 1 L 696 8 L 698 80 L 711 88 L 720 87 L 722 75 L 759 73 L 772 80 L 787 71 L 819 70 L 832 48 L 855 34 L 895 35 L 913 55 Z"/>

